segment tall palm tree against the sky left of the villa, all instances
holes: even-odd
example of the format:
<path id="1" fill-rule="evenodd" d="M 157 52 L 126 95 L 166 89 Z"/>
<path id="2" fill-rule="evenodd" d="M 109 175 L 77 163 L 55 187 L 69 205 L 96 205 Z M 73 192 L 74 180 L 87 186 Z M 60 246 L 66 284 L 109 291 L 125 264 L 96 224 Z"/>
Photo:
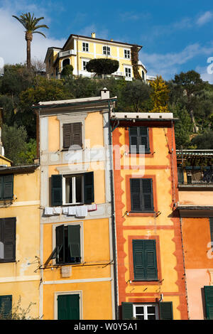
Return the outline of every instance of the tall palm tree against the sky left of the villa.
<path id="1" fill-rule="evenodd" d="M 27 68 L 31 68 L 31 41 L 33 40 L 33 33 L 40 33 L 40 35 L 46 37 L 44 33 L 35 30 L 37 30 L 38 28 L 49 28 L 49 27 L 46 26 L 45 24 L 37 26 L 37 23 L 40 20 L 43 20 L 43 17 L 36 18 L 34 17 L 34 14 L 33 16 L 31 16 L 31 13 L 22 14 L 20 17 L 17 17 L 15 15 L 12 16 L 16 18 L 16 20 L 18 20 L 24 26 L 24 28 L 26 28 L 25 39 L 27 42 Z"/>

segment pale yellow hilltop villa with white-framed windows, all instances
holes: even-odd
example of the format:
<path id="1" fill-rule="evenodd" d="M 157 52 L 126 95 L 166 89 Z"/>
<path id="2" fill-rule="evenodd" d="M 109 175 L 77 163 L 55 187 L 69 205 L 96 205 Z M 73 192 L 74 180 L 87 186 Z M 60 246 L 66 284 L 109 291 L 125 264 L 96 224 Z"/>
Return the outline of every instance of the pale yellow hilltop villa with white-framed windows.
<path id="1" fill-rule="evenodd" d="M 96 38 L 95 33 L 91 37 L 70 35 L 62 48 L 48 48 L 45 56 L 46 72 L 48 77 L 60 77 L 65 65 L 73 66 L 73 75 L 77 77 L 94 77 L 94 73 L 87 72 L 86 65 L 94 58 L 110 58 L 119 61 L 119 69 L 113 73 L 115 77 L 124 77 L 125 80 L 133 80 L 133 65 L 131 61 L 131 48 L 133 44 L 104 40 Z M 141 45 L 136 45 L 138 52 Z M 138 72 L 146 81 L 146 68 L 138 61 Z M 152 80 L 151 77 L 147 78 Z"/>

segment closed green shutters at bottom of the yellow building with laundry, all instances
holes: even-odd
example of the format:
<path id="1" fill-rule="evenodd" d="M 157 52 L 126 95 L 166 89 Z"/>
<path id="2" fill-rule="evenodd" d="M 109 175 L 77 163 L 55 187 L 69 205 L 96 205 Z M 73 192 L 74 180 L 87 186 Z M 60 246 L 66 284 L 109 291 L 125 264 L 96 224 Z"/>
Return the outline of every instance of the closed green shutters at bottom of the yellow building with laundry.
<path id="1" fill-rule="evenodd" d="M 80 320 L 80 295 L 58 296 L 58 320 Z"/>

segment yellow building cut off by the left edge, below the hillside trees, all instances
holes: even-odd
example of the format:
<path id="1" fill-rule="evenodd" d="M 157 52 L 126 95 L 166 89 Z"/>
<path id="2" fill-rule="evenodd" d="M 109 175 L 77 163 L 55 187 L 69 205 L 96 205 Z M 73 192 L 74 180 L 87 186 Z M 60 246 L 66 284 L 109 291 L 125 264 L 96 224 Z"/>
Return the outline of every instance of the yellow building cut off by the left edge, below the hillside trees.
<path id="1" fill-rule="evenodd" d="M 38 165 L 0 166 L 0 308 L 18 305 L 39 316 L 40 171 Z M 3 166 L 2 166 L 3 165 Z M 20 312 L 20 310 L 18 310 Z"/>

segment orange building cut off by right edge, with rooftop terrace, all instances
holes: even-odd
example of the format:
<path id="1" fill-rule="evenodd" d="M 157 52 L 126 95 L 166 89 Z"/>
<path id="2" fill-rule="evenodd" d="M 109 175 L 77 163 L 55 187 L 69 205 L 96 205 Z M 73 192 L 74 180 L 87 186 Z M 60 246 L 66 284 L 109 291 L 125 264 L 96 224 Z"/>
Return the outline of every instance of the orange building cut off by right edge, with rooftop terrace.
<path id="1" fill-rule="evenodd" d="M 177 151 L 177 156 L 189 318 L 213 320 L 213 150 Z"/>

